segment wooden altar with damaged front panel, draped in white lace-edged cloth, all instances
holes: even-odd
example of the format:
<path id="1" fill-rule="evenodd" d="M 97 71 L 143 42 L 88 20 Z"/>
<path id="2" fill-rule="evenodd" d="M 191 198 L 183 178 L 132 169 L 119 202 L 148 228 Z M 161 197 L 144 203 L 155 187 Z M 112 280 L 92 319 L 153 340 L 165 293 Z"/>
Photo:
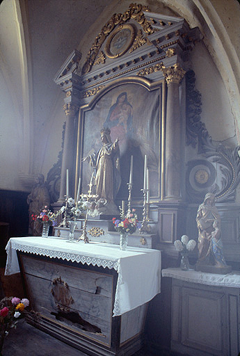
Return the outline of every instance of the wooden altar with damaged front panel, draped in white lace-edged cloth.
<path id="1" fill-rule="evenodd" d="M 161 252 L 64 238 L 10 238 L 6 275 L 22 273 L 36 325 L 90 355 L 143 346 L 147 302 L 160 292 Z"/>

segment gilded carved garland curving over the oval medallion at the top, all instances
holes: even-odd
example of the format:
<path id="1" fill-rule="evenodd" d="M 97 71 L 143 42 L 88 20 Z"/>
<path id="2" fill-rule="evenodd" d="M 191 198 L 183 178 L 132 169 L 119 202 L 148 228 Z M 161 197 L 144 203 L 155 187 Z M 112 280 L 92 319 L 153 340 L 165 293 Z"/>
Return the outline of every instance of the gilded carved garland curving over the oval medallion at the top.
<path id="1" fill-rule="evenodd" d="M 143 28 L 143 31 L 147 34 L 154 33 L 154 29 L 152 25 L 147 19 L 145 19 L 145 15 L 143 11 L 149 11 L 150 9 L 147 6 L 143 6 L 141 4 L 131 3 L 128 10 L 124 14 L 114 14 L 109 22 L 105 24 L 102 28 L 102 31 L 95 38 L 95 42 L 93 46 L 88 51 L 88 56 L 86 62 L 83 64 L 83 68 L 81 74 L 86 74 L 90 71 L 91 67 L 95 62 L 95 58 L 99 52 L 100 47 L 106 40 L 106 37 L 115 29 L 115 26 L 120 24 L 124 24 L 128 22 L 129 19 L 134 19 L 138 24 L 140 24 Z"/>

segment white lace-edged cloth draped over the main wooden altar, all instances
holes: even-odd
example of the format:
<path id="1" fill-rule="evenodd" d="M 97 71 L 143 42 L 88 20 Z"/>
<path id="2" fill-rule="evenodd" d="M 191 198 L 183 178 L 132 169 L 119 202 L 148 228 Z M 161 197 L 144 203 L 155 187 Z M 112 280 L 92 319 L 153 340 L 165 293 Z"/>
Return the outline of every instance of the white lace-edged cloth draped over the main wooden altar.
<path id="1" fill-rule="evenodd" d="M 17 250 L 82 264 L 114 268 L 118 272 L 113 316 L 150 301 L 160 293 L 161 252 L 148 248 L 128 247 L 106 243 L 69 243 L 63 238 L 51 236 L 10 238 L 6 245 L 8 254 L 6 275 L 19 273 Z"/>

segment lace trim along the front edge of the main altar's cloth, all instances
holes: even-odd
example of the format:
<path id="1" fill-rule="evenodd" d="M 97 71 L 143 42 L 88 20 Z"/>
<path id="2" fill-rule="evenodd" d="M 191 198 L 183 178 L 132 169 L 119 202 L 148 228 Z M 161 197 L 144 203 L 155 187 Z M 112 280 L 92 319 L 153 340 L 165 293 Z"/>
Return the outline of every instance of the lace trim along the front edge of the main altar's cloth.
<path id="1" fill-rule="evenodd" d="M 100 259 L 98 257 L 90 257 L 86 256 L 84 254 L 77 254 L 77 253 L 67 253 L 67 252 L 62 252 L 62 251 L 54 251 L 54 250 L 48 250 L 45 248 L 36 248 L 35 246 L 30 247 L 27 245 L 22 245 L 19 243 L 13 243 L 12 242 L 12 248 L 14 250 L 19 250 L 22 252 L 29 252 L 33 254 L 40 254 L 42 256 L 50 257 L 50 258 L 57 258 L 57 259 L 66 259 L 67 261 L 72 261 L 72 262 L 81 262 L 81 264 L 87 264 L 97 266 L 97 267 L 104 267 L 104 268 L 109 268 L 112 269 L 114 268 L 116 271 L 118 271 L 118 261 L 112 261 L 111 259 Z"/>

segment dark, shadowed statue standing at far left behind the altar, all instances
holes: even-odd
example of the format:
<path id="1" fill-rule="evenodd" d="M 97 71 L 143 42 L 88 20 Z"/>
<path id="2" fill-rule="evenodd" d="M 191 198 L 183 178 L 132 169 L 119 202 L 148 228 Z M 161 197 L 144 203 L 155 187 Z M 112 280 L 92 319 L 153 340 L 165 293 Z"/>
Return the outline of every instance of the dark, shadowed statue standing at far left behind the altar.
<path id="1" fill-rule="evenodd" d="M 29 204 L 29 235 L 41 236 L 42 223 L 38 220 L 34 221 L 32 216 L 38 216 L 43 209 L 49 209 L 50 197 L 44 175 L 37 175 L 35 177 L 35 185 L 28 195 L 26 202 Z"/>

